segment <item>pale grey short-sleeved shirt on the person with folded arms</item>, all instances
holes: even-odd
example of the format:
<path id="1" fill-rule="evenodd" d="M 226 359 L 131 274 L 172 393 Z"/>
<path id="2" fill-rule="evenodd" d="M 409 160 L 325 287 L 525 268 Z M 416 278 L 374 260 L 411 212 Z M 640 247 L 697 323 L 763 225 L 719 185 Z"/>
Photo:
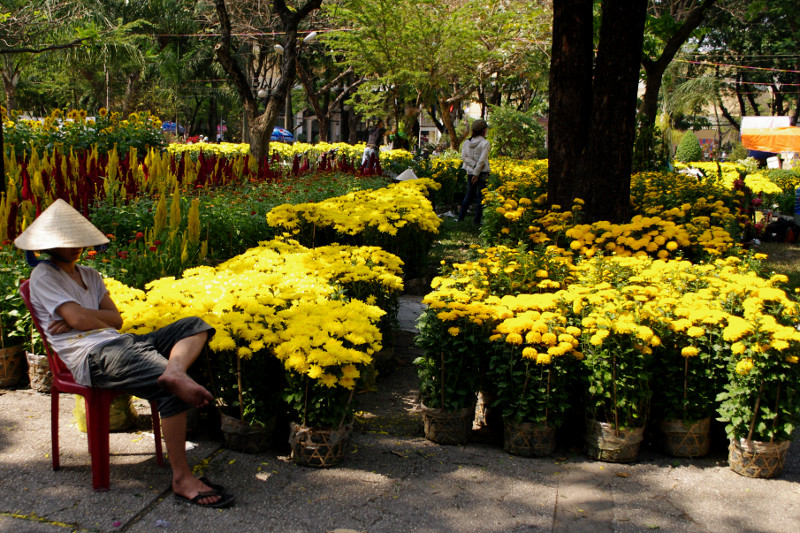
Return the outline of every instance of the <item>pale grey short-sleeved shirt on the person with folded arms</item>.
<path id="1" fill-rule="evenodd" d="M 119 338 L 121 334 L 114 328 L 91 331 L 73 329 L 58 334 L 48 331 L 52 322 L 62 320 L 56 311 L 61 305 L 75 302 L 85 309 L 100 309 L 100 302 L 108 293 L 99 272 L 80 265 L 75 265 L 75 268 L 81 274 L 85 289 L 60 268 L 47 263 L 37 265 L 31 273 L 31 304 L 47 335 L 47 341 L 70 369 L 75 382 L 91 385 L 89 351 L 95 346 Z"/>

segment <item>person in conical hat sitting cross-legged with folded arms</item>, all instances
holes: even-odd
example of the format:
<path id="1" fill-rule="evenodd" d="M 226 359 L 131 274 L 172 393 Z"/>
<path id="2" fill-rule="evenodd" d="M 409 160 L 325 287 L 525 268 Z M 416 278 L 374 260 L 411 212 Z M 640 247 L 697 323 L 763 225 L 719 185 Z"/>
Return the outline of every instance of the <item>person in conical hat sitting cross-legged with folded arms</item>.
<path id="1" fill-rule="evenodd" d="M 228 507 L 234 496 L 198 479 L 186 459 L 186 411 L 214 397 L 187 374 L 214 329 L 186 318 L 146 335 L 121 334 L 122 317 L 96 270 L 78 264 L 83 249 L 108 242 L 63 200 L 56 200 L 14 241 L 44 251 L 30 277 L 31 304 L 47 341 L 81 385 L 122 390 L 155 401 L 181 501 Z"/>

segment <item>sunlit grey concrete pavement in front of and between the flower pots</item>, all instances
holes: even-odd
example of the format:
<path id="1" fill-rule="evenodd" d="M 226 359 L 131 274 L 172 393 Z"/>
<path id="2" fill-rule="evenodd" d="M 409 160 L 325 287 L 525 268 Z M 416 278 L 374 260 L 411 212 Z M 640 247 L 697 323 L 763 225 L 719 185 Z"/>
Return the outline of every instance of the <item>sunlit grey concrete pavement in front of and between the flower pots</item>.
<path id="1" fill-rule="evenodd" d="M 569 445 L 529 459 L 496 435 L 442 446 L 424 438 L 411 361 L 418 297 L 404 297 L 394 353 L 360 414 L 344 461 L 294 464 L 285 445 L 262 454 L 192 436 L 190 462 L 236 494 L 227 510 L 175 501 L 156 465 L 148 412 L 139 429 L 111 435 L 111 490 L 93 492 L 86 436 L 61 396 L 61 465 L 51 469 L 50 397 L 0 389 L 0 532 L 327 531 L 505 533 L 527 531 L 800 531 L 800 446 L 775 479 L 739 476 L 724 445 L 702 459 L 644 446 L 634 464 L 588 459 Z"/>

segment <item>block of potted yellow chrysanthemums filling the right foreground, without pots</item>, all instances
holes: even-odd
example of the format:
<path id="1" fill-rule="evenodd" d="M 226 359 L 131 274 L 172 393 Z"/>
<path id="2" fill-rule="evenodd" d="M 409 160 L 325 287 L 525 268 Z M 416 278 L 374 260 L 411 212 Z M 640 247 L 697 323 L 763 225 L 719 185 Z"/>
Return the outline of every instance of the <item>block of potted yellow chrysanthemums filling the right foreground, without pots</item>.
<path id="1" fill-rule="evenodd" d="M 445 393 L 459 392 L 460 404 L 478 392 L 469 371 L 452 383 L 430 370 L 449 357 L 473 371 L 488 368 L 495 406 L 514 422 L 524 413 L 557 424 L 563 416 L 556 407 L 569 405 L 619 430 L 716 412 L 731 438 L 790 438 L 800 416 L 800 307 L 780 289 L 784 277 L 757 275 L 757 260 L 567 264 L 552 249 L 550 256 L 519 252 L 517 261 L 477 253 L 474 263 L 435 279 L 424 300 L 418 364 L 425 400 L 444 394 L 443 383 Z M 523 265 L 548 257 L 562 268 L 540 268 L 534 283 Z M 501 272 L 509 279 L 493 288 L 490 279 Z M 574 360 L 581 364 L 565 370 L 562 362 Z"/>

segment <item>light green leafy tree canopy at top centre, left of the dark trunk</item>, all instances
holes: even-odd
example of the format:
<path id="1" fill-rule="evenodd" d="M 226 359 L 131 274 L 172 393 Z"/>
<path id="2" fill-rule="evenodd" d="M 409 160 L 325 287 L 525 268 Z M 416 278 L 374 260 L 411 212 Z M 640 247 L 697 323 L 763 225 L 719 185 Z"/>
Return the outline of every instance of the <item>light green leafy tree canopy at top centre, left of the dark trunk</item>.
<path id="1" fill-rule="evenodd" d="M 368 116 L 389 114 L 411 133 L 420 109 L 457 148 L 468 133 L 456 130 L 463 102 L 500 104 L 516 87 L 518 105 L 541 95 L 524 81 L 544 56 L 547 30 L 539 2 L 478 0 L 342 0 L 327 12 L 352 31 L 326 37 L 355 72 L 368 79 L 351 99 Z M 541 66 L 541 59 L 538 63 Z M 541 71 L 537 71 L 541 73 Z M 506 88 L 505 80 L 514 79 Z M 510 100 L 510 95 L 506 95 Z"/>

